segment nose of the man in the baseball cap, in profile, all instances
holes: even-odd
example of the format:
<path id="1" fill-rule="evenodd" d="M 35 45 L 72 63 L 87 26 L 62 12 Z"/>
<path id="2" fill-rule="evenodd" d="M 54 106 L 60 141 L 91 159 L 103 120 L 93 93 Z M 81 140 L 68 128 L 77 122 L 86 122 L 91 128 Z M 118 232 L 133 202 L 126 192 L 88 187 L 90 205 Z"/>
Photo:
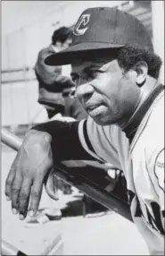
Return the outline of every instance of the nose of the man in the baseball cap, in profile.
<path id="1" fill-rule="evenodd" d="M 94 93 L 94 87 L 90 83 L 84 83 L 81 85 L 78 85 L 75 96 L 77 98 L 84 98 L 87 97 L 87 95 L 91 95 Z"/>

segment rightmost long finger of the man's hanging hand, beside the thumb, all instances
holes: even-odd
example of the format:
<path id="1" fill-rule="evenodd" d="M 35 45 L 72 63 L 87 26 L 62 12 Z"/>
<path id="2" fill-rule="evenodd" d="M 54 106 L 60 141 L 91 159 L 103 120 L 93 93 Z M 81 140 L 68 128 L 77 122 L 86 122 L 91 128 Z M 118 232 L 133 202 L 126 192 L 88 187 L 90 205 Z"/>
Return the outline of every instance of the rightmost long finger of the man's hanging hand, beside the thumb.
<path id="1" fill-rule="evenodd" d="M 36 180 L 33 183 L 32 191 L 31 191 L 31 200 L 30 200 L 30 206 L 29 206 L 29 216 L 35 216 L 37 213 L 37 209 L 39 206 L 39 201 L 41 199 L 43 189 L 43 181 L 42 180 Z"/>

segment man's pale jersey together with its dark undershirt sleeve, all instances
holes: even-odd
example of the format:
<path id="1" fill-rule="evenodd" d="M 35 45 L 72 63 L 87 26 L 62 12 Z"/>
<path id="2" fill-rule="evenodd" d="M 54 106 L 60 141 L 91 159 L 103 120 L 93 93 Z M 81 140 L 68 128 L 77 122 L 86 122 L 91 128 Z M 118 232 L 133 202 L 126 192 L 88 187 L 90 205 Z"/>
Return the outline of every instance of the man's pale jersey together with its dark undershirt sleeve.
<path id="1" fill-rule="evenodd" d="M 142 119 L 134 136 L 130 133 L 131 140 L 117 125 L 101 126 L 90 117 L 80 122 L 54 121 L 33 127 L 52 134 L 54 162 L 95 161 L 108 166 L 109 172 L 124 172 L 132 218 L 153 255 L 164 255 L 165 235 L 164 91 L 162 86 L 160 89 L 159 94 L 153 94 L 156 96 L 147 111 L 140 109 Z M 135 125 L 132 127 L 135 131 Z"/>

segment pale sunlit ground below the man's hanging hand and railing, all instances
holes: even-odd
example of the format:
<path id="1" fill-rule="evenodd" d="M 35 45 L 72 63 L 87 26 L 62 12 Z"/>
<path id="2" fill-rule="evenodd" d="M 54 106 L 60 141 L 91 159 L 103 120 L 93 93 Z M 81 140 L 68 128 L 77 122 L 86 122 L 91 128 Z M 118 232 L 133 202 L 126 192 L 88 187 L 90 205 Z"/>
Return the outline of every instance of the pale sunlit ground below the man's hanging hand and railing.
<path id="1" fill-rule="evenodd" d="M 62 220 L 40 225 L 37 227 L 37 233 L 32 227 L 27 232 L 25 221 L 20 221 L 18 216 L 12 215 L 11 204 L 5 200 L 4 196 L 4 181 L 14 156 L 15 152 L 12 150 L 3 150 L 1 157 L 2 239 L 4 241 L 28 255 L 30 253 L 42 255 L 46 244 L 51 243 L 55 236 L 60 234 L 63 241 L 63 255 L 149 255 L 136 226 L 114 212 L 99 217 L 83 218 L 79 209 L 75 217 L 63 217 Z M 59 201 L 52 201 L 43 192 L 40 207 L 62 209 L 70 201 L 78 201 L 80 198 L 81 194 L 76 189 L 72 195 L 63 195 L 60 192 Z M 73 205 L 74 203 L 72 207 Z M 81 204 L 79 207 L 81 208 Z"/>

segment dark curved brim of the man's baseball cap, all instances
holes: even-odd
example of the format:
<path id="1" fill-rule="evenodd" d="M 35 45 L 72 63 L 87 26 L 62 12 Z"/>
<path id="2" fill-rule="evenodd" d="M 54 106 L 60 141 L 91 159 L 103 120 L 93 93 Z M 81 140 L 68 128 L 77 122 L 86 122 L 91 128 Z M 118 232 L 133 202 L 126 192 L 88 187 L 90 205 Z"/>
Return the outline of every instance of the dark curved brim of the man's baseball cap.
<path id="1" fill-rule="evenodd" d="M 62 52 L 55 53 L 45 58 L 45 64 L 47 65 L 64 65 L 71 64 L 74 60 L 88 59 L 89 56 L 93 55 L 95 50 L 109 50 L 112 48 L 120 48 L 125 45 L 117 45 L 111 43 L 81 43 L 75 46 L 68 47 Z M 91 54 L 91 55 L 90 55 Z"/>

